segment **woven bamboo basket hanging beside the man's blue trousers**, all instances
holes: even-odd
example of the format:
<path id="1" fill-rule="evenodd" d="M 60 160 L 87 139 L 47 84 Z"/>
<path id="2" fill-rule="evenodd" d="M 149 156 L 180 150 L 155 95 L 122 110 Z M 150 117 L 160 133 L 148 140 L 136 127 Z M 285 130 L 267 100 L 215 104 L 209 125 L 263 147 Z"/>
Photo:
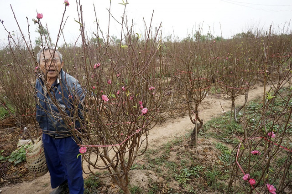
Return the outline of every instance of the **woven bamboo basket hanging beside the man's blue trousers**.
<path id="1" fill-rule="evenodd" d="M 43 151 L 43 142 L 40 136 L 37 142 L 26 149 L 26 162 L 31 176 L 42 176 L 48 172 L 48 166 Z"/>

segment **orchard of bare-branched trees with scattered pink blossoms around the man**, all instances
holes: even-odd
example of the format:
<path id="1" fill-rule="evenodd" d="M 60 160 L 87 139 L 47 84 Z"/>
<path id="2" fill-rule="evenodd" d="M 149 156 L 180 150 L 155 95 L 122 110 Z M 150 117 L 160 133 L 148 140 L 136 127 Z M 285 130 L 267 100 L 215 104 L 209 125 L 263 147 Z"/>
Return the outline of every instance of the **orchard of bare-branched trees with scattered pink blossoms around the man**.
<path id="1" fill-rule="evenodd" d="M 36 78 L 48 85 L 36 53 L 45 47 L 62 53 L 63 70 L 78 79 L 85 94 L 85 106 L 78 106 L 73 90 L 70 114 L 50 114 L 81 146 L 86 193 L 292 192 L 289 28 L 248 29 L 224 39 L 204 35 L 199 26 L 180 39 L 163 37 L 161 25 L 145 21 L 139 34 L 126 11 L 120 22 L 109 13 L 120 27 L 118 39 L 98 21 L 88 33 L 77 4 L 80 39 L 59 45 L 68 6 L 65 1 L 55 40 L 41 13 L 28 20 L 28 28 L 33 25 L 40 35 L 34 43 L 9 33 L 1 21 L 9 34 L 0 50 L 2 192 L 51 190 L 48 173 L 29 176 L 28 145 L 17 149 L 19 139 L 41 133 Z"/>

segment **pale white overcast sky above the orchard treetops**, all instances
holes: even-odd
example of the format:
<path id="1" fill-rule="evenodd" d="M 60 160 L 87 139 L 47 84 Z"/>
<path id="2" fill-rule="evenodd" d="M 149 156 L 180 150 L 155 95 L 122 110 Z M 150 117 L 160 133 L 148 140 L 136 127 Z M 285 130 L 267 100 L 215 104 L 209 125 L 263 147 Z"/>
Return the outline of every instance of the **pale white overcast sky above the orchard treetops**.
<path id="1" fill-rule="evenodd" d="M 81 0 L 85 28 L 90 36 L 92 31 L 96 32 L 93 4 L 99 24 L 103 32 L 107 32 L 109 14 L 106 8 L 109 8 L 109 2 L 109 0 Z M 121 2 L 123 1 L 111 1 L 111 13 L 119 21 L 123 14 L 123 5 L 119 4 Z M 69 0 L 69 3 L 65 12 L 65 18 L 68 17 L 68 20 L 64 34 L 66 42 L 75 42 L 79 35 L 79 24 L 74 21 L 78 20 L 78 13 L 76 2 Z M 152 27 L 154 29 L 162 22 L 164 37 L 175 35 L 185 38 L 199 26 L 203 26 L 203 34 L 211 30 L 215 36 L 221 36 L 222 31 L 224 38 L 230 38 L 236 33 L 246 32 L 251 28 L 263 28 L 267 31 L 271 24 L 275 31 L 280 29 L 283 31 L 288 28 L 292 17 L 291 0 L 128 0 L 128 3 L 126 14 L 130 22 L 133 19 L 135 32 L 144 31 L 143 18 L 149 25 L 154 10 Z M 64 12 L 64 0 L 0 0 L 0 19 L 4 21 L 9 32 L 17 32 L 18 28 L 10 4 L 26 37 L 26 17 L 29 18 L 31 37 L 34 40 L 37 36 L 34 32 L 36 25 L 33 25 L 32 19 L 36 18 L 36 13 L 39 12 L 43 13 L 41 22 L 43 25 L 48 25 L 52 40 L 55 42 Z M 111 20 L 109 35 L 119 37 L 120 25 Z M 0 45 L 5 45 L 6 41 L 7 33 L 3 26 L 0 26 Z M 61 40 L 60 43 L 63 42 Z"/>

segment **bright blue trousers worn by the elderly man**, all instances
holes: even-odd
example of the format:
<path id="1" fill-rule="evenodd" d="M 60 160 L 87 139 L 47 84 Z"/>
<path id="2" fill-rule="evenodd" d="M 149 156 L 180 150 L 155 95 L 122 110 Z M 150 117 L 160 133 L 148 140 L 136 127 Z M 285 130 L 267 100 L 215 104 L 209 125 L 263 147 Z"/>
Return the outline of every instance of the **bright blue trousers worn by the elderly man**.
<path id="1" fill-rule="evenodd" d="M 54 139 L 43 133 L 42 140 L 52 188 L 68 179 L 70 194 L 82 194 L 84 192 L 82 157 L 76 159 L 79 146 L 74 139 L 72 137 Z"/>

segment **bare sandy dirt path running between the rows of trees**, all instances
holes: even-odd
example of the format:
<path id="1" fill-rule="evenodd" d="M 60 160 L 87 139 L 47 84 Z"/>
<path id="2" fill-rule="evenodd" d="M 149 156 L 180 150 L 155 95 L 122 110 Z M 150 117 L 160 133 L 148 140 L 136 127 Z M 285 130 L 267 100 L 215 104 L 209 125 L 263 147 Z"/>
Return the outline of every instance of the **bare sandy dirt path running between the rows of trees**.
<path id="1" fill-rule="evenodd" d="M 269 90 L 269 87 L 266 87 Z M 249 91 L 249 101 L 255 98 L 261 97 L 263 94 L 263 87 L 256 86 Z M 239 96 L 235 101 L 235 105 L 240 105 L 244 102 L 244 95 Z M 231 108 L 231 101 L 224 99 L 216 99 L 211 96 L 207 96 L 202 105 L 200 105 L 200 118 L 204 121 L 208 121 L 218 115 L 222 114 L 222 108 L 224 111 L 229 111 Z M 189 119 L 189 116 L 185 116 L 179 119 L 172 119 L 162 125 L 156 125 L 152 129 L 148 136 L 149 149 L 155 149 L 168 141 L 174 139 L 176 136 L 185 135 L 194 128 L 194 125 Z M 88 175 L 84 174 L 84 178 Z M 50 175 L 49 173 L 37 177 L 31 182 L 23 182 L 16 185 L 10 185 L 0 188 L 1 194 L 47 194 L 52 191 L 50 187 Z"/>

